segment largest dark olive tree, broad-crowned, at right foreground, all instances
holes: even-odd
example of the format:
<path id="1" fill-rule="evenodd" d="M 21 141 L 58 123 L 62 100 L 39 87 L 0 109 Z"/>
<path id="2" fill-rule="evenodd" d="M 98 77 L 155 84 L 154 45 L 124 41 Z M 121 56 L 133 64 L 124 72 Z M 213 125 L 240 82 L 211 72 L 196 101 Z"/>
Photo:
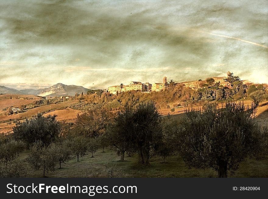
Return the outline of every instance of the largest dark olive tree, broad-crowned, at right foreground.
<path id="1" fill-rule="evenodd" d="M 237 170 L 259 146 L 260 131 L 252 113 L 252 108 L 234 102 L 222 109 L 208 105 L 203 111 L 188 110 L 178 129 L 183 160 L 227 177 L 227 170 Z"/>

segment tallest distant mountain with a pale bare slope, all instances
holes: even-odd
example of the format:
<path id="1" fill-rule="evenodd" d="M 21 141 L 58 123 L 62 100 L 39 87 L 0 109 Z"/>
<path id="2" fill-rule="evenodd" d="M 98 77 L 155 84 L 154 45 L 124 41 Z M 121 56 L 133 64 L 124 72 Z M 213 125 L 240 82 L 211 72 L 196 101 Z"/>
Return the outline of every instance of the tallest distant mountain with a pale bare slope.
<path id="1" fill-rule="evenodd" d="M 55 96 L 62 96 L 62 95 L 69 95 L 73 96 L 76 93 L 81 94 L 87 93 L 90 89 L 86 89 L 83 86 L 75 86 L 75 85 L 65 85 L 62 83 L 55 84 L 51 86 L 48 89 L 42 90 L 40 93 L 38 93 L 38 96 L 49 96 L 49 97 L 55 97 Z"/>

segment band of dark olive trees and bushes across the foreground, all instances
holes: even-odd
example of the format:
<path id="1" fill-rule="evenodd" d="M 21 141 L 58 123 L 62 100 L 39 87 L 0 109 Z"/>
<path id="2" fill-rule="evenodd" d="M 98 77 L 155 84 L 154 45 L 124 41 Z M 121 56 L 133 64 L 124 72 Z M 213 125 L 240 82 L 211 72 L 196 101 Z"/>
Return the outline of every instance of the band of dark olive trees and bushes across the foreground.
<path id="1" fill-rule="evenodd" d="M 231 103 L 219 109 L 208 103 L 203 110 L 187 110 L 181 117 L 161 117 L 153 101 L 125 106 L 117 113 L 93 109 L 77 116 L 73 124 L 59 123 L 54 116 L 17 122 L 14 133 L 1 137 L 2 177 L 25 176 L 26 166 L 53 172 L 71 158 L 112 148 L 121 161 L 125 154 L 137 154 L 137 164 L 149 166 L 150 157 L 166 162 L 180 155 L 190 167 L 213 168 L 218 177 L 227 177 L 247 157 L 261 158 L 268 152 L 267 127 L 260 127 L 251 107 Z M 17 156 L 30 150 L 26 160 Z M 24 168 L 24 169 L 23 169 Z M 11 173 L 10 171 L 16 171 Z"/>

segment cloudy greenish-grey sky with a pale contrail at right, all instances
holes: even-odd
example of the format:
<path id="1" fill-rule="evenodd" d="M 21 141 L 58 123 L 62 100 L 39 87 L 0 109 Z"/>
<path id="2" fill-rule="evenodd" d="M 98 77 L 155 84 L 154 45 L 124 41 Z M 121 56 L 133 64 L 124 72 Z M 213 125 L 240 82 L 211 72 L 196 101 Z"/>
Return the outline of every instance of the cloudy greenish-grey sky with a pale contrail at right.
<path id="1" fill-rule="evenodd" d="M 266 0 L 0 0 L 0 85 L 268 83 Z"/>

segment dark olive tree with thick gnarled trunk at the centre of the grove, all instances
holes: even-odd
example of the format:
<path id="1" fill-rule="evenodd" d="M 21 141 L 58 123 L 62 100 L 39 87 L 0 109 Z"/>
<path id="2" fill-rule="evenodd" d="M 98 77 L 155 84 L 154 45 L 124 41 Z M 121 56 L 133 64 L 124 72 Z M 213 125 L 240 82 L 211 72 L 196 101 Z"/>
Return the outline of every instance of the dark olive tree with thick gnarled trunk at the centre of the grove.
<path id="1" fill-rule="evenodd" d="M 160 114 L 154 102 L 142 102 L 134 108 L 128 107 L 118 113 L 115 118 L 113 132 L 115 139 L 120 139 L 116 145 L 122 151 L 128 150 L 134 144 L 138 151 L 138 163 L 148 165 L 150 147 L 161 139 Z"/>

